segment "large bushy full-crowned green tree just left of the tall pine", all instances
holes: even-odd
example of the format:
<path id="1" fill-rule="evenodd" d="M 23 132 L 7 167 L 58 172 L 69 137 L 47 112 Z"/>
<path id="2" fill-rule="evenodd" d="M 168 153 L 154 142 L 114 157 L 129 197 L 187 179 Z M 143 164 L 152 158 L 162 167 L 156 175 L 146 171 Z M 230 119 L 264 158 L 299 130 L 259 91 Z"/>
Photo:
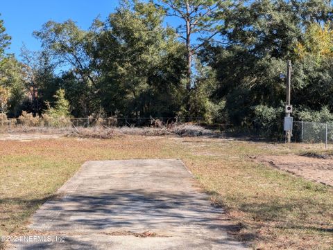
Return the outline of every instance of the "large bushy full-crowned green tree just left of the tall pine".
<path id="1" fill-rule="evenodd" d="M 102 106 L 109 115 L 175 116 L 182 105 L 185 48 L 153 3 L 123 2 L 96 43 Z"/>

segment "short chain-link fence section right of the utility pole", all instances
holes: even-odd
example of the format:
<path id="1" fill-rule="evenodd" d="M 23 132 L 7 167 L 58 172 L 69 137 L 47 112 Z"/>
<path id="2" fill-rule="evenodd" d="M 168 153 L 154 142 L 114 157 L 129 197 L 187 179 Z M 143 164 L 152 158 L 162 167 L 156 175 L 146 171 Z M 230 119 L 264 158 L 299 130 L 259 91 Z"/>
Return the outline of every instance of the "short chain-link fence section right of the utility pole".
<path id="1" fill-rule="evenodd" d="M 293 141 L 300 143 L 332 143 L 333 123 L 296 121 L 293 123 Z"/>

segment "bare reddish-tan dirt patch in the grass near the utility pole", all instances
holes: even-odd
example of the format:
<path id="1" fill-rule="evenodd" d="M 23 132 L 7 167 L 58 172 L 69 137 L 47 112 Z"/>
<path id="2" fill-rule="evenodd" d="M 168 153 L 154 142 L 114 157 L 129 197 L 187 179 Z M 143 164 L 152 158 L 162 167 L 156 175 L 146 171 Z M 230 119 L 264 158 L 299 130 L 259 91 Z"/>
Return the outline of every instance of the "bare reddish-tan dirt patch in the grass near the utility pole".
<path id="1" fill-rule="evenodd" d="M 311 157 L 287 154 L 259 156 L 255 157 L 255 159 L 280 170 L 304 177 L 305 179 L 333 186 L 332 157 Z"/>

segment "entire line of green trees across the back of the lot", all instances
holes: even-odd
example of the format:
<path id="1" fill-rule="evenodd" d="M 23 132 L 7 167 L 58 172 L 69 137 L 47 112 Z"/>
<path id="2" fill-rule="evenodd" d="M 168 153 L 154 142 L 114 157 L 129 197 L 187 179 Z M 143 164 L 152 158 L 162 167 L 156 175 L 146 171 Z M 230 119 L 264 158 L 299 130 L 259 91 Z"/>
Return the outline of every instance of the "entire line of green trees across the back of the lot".
<path id="1" fill-rule="evenodd" d="M 0 21 L 1 111 L 44 113 L 52 124 L 70 114 L 200 116 L 280 132 L 279 76 L 292 60 L 295 118 L 330 121 L 332 10 L 321 0 L 123 0 L 89 30 L 48 21 L 34 33 L 42 51 L 23 50 L 22 62 L 5 54 Z M 167 16 L 180 26 L 165 26 Z"/>

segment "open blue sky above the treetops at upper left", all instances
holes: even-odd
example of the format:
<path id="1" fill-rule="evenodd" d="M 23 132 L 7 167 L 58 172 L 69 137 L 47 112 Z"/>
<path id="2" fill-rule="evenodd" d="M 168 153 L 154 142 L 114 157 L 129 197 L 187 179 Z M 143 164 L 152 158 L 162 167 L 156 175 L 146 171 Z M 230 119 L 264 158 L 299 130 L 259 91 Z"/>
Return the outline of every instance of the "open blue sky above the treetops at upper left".
<path id="1" fill-rule="evenodd" d="M 12 37 L 9 53 L 20 54 L 22 44 L 29 50 L 38 50 L 40 42 L 32 35 L 46 21 L 72 19 L 78 26 L 87 29 L 97 16 L 102 19 L 118 5 L 117 0 L 10 0 L 1 2 L 1 19 L 6 33 Z"/>

